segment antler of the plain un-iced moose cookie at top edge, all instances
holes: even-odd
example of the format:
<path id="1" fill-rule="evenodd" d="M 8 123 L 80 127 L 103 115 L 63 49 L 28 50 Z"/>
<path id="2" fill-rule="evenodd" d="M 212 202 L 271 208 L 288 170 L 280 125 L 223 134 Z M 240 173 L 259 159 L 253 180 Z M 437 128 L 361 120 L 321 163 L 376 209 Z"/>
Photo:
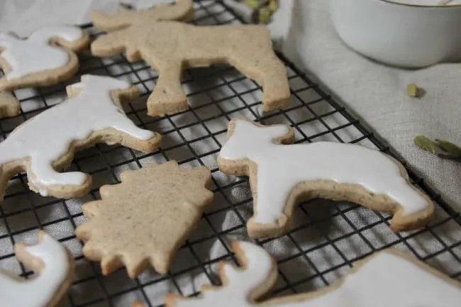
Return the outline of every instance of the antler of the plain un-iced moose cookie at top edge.
<path id="1" fill-rule="evenodd" d="M 139 11 L 121 9 L 111 14 L 94 11 L 92 20 L 96 28 L 112 31 L 126 28 L 133 23 L 145 23 L 145 21 L 152 20 L 189 21 L 193 15 L 192 0 L 177 0 L 175 4 L 158 4 L 153 9 Z"/>

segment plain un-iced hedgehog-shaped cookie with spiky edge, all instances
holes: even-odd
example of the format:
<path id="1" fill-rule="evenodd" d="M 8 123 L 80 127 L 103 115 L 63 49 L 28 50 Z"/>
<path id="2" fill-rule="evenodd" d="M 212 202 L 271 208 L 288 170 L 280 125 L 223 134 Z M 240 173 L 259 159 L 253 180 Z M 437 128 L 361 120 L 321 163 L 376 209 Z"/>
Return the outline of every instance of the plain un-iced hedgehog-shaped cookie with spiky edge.
<path id="1" fill-rule="evenodd" d="M 175 161 L 148 164 L 121 174 L 121 184 L 102 186 L 101 200 L 83 206 L 88 223 L 77 228 L 87 259 L 103 274 L 123 265 L 132 278 L 150 264 L 166 273 L 174 252 L 211 204 L 211 172 L 180 168 Z"/>

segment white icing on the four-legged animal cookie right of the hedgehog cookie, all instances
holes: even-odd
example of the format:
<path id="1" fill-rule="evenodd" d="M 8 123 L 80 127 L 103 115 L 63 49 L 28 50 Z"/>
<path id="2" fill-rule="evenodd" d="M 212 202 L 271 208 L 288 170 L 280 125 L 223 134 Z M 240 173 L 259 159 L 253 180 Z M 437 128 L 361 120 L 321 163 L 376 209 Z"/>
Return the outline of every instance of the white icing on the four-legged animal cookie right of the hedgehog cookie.
<path id="1" fill-rule="evenodd" d="M 235 130 L 219 153 L 226 160 L 248 158 L 257 164 L 257 203 L 254 221 L 272 223 L 280 218 L 291 189 L 300 182 L 331 179 L 360 184 L 374 194 L 386 194 L 408 215 L 427 208 L 426 199 L 401 177 L 399 167 L 386 155 L 359 145 L 317 142 L 277 145 L 286 125 L 258 127 L 235 121 Z"/>

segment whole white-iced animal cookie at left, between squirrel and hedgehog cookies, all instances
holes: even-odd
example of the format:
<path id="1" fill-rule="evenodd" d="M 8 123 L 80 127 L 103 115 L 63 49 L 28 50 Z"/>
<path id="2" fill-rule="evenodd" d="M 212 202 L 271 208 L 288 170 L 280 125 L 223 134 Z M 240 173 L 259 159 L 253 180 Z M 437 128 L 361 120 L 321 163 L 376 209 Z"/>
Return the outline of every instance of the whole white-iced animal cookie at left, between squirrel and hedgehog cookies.
<path id="1" fill-rule="evenodd" d="M 119 143 L 143 152 L 160 145 L 160 135 L 138 128 L 123 113 L 121 98 L 139 95 L 138 88 L 111 77 L 82 76 L 67 86 L 69 99 L 19 125 L 0 143 L 0 199 L 8 179 L 21 170 L 29 186 L 42 195 L 70 198 L 87 194 L 91 177 L 60 173 L 74 152 L 95 143 Z"/>

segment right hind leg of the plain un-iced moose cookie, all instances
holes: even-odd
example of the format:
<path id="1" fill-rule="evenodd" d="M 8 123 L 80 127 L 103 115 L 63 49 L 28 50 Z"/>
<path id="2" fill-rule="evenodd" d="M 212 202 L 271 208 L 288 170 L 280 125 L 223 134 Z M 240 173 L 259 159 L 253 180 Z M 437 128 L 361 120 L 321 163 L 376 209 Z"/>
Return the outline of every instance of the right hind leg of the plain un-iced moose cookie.
<path id="1" fill-rule="evenodd" d="M 230 57 L 230 65 L 262 85 L 262 111 L 288 106 L 290 89 L 287 69 L 272 50 L 255 54 L 238 52 Z"/>

